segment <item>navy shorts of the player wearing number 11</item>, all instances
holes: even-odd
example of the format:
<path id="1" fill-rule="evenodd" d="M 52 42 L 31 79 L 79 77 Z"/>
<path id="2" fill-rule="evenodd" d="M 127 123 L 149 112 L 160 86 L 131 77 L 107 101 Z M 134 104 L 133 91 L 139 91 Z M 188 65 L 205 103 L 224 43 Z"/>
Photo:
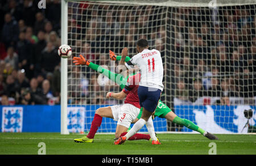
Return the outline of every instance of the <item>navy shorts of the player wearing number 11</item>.
<path id="1" fill-rule="evenodd" d="M 158 88 L 138 87 L 139 104 L 149 112 L 154 112 L 160 99 L 161 90 Z"/>

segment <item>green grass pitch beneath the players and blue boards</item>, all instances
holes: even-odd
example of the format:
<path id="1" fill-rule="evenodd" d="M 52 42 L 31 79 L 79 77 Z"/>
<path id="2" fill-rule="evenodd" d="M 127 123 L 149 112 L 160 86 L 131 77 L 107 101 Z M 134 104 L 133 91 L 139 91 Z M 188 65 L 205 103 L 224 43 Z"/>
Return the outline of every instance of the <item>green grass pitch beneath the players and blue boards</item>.
<path id="1" fill-rule="evenodd" d="M 94 143 L 75 143 L 80 134 L 1 133 L 0 155 L 36 155 L 38 144 L 46 143 L 47 155 L 208 155 L 209 143 L 216 143 L 217 155 L 255 155 L 256 135 L 217 134 L 211 141 L 200 134 L 158 134 L 162 144 L 126 141 L 114 145 L 114 134 L 96 134 Z"/>

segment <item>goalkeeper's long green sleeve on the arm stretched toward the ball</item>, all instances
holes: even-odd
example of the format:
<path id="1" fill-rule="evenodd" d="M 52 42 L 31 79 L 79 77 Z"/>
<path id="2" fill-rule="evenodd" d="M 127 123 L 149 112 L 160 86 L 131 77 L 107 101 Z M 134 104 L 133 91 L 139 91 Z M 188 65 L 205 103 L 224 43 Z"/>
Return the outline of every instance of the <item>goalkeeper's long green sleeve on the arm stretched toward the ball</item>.
<path id="1" fill-rule="evenodd" d="M 102 73 L 103 75 L 108 76 L 108 78 L 110 80 L 117 83 L 122 89 L 125 87 L 126 80 L 123 79 L 122 74 L 113 73 L 113 72 L 109 71 L 108 69 L 105 69 L 104 67 L 101 67 L 100 65 L 94 64 L 92 62 L 90 62 L 89 67 L 90 67 L 90 69 L 93 69 L 93 70 L 97 71 L 98 73 Z"/>

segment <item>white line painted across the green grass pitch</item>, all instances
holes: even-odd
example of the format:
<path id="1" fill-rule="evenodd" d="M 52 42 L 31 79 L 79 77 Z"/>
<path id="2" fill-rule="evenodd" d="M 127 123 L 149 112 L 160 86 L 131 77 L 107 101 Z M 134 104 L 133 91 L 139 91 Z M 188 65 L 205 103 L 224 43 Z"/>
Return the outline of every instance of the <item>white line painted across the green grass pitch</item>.
<path id="1" fill-rule="evenodd" d="M 22 138 L 22 137 L 2 137 L 2 139 L 62 139 L 62 140 L 73 140 L 73 138 Z M 102 139 L 94 139 L 94 140 L 102 140 Z M 112 141 L 112 139 L 104 139 L 108 141 Z M 139 140 L 137 140 L 139 141 Z M 142 141 L 142 140 L 141 140 Z M 199 140 L 199 141 L 192 141 L 192 140 L 161 140 L 163 142 L 168 141 L 168 142 L 209 142 L 210 140 Z M 237 142 L 237 143 L 245 143 L 245 141 L 217 141 L 217 142 Z M 256 143 L 256 141 L 254 141 Z"/>

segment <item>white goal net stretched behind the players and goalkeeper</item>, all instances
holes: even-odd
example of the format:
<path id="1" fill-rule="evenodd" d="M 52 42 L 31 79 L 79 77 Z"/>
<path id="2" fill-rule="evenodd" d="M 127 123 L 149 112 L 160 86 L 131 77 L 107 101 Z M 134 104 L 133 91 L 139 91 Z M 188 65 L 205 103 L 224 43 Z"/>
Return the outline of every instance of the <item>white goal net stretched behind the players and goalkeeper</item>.
<path id="1" fill-rule="evenodd" d="M 68 1 L 68 45 L 73 56 L 115 73 L 109 50 L 129 57 L 148 40 L 164 66 L 161 100 L 181 118 L 212 133 L 247 133 L 256 122 L 256 1 Z M 122 89 L 68 58 L 68 130 L 89 131 L 98 108 Z M 99 133 L 115 132 L 103 118 Z M 155 131 L 191 130 L 156 117 Z M 143 127 L 140 131 L 147 131 Z"/>

